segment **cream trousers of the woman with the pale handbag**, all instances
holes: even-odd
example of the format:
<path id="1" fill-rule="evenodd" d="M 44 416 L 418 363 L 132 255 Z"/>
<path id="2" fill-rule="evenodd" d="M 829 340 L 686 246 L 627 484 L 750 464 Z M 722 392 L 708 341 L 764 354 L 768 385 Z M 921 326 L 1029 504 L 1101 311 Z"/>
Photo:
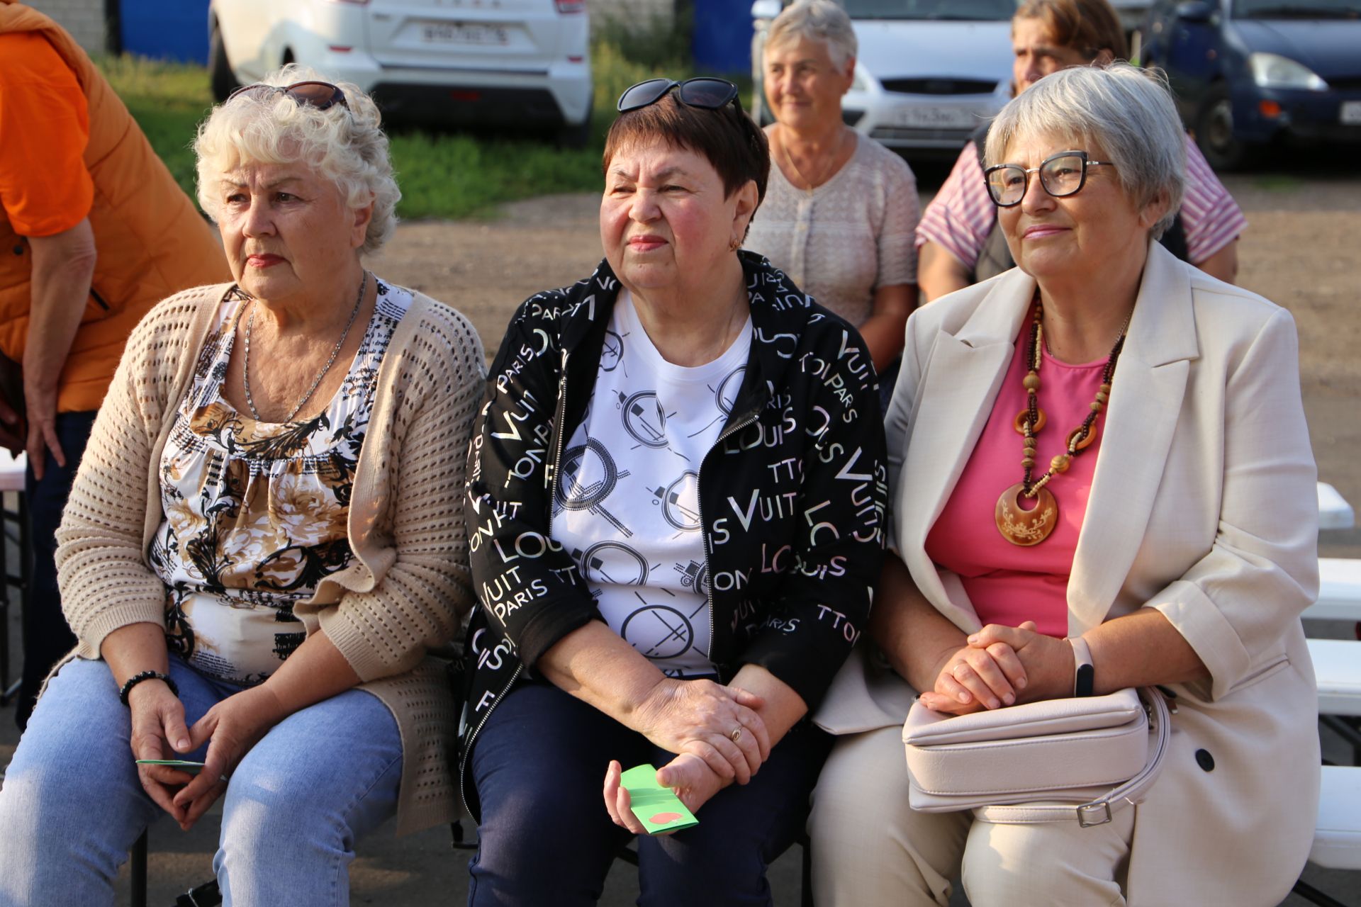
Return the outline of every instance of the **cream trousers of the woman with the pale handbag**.
<path id="1" fill-rule="evenodd" d="M 837 738 L 813 794 L 818 907 L 947 907 L 962 877 L 973 907 L 1124 904 L 1135 810 L 1093 828 L 1002 825 L 908 808 L 902 729 Z"/>

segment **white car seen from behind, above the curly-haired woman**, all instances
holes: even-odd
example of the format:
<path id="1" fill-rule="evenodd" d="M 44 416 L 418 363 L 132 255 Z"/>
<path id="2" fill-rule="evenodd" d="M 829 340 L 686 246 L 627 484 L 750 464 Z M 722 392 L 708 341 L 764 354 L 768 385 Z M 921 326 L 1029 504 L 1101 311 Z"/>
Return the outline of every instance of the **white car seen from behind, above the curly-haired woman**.
<path id="1" fill-rule="evenodd" d="M 211 0 L 208 72 L 220 101 L 286 63 L 373 94 L 391 120 L 591 128 L 585 0 Z"/>

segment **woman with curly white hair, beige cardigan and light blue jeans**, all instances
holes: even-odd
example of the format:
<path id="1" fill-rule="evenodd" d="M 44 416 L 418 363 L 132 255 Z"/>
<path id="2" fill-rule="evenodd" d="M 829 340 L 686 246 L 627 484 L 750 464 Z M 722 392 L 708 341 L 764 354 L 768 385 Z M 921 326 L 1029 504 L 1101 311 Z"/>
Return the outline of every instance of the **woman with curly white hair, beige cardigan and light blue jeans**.
<path id="1" fill-rule="evenodd" d="M 79 646 L 0 789 L 0 904 L 112 904 L 142 831 L 219 797 L 229 904 L 347 904 L 358 836 L 453 815 L 430 653 L 472 601 L 480 343 L 362 264 L 400 193 L 355 86 L 284 68 L 195 150 L 235 280 L 159 303 L 99 411 L 59 532 Z"/>

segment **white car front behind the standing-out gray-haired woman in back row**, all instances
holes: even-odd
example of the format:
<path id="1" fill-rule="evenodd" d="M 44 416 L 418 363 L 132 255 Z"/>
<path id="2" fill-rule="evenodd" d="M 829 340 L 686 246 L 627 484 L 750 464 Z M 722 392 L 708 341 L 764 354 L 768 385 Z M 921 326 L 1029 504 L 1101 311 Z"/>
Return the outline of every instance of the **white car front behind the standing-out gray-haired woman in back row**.
<path id="1" fill-rule="evenodd" d="M 1011 98 L 1015 0 L 841 0 L 860 53 L 841 101 L 862 135 L 909 156 L 953 156 Z M 778 0 L 751 7 L 753 114 L 769 122 L 761 52 Z"/>

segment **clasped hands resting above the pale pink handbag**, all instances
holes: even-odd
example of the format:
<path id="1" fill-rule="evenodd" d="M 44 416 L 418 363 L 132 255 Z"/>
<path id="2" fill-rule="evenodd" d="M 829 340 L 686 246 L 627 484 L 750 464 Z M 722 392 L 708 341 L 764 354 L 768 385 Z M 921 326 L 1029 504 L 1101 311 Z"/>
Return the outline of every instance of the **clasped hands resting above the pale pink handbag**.
<path id="1" fill-rule="evenodd" d="M 935 676 L 921 704 L 951 715 L 1056 699 L 1071 695 L 1072 650 L 1038 632 L 1032 620 L 1019 627 L 988 624 L 962 647 L 946 651 Z"/>

